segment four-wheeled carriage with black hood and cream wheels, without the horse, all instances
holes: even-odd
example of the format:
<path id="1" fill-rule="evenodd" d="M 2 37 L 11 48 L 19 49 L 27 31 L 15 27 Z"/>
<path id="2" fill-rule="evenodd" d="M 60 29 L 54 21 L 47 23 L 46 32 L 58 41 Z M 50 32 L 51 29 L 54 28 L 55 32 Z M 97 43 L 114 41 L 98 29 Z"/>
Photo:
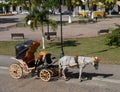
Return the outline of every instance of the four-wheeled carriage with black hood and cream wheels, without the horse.
<path id="1" fill-rule="evenodd" d="M 34 54 L 39 45 L 39 41 L 29 40 L 15 46 L 16 57 L 11 59 L 17 62 L 9 67 L 12 78 L 19 79 L 31 73 L 37 74 L 43 81 L 49 81 L 52 76 L 58 75 L 58 65 L 53 64 L 56 59 L 51 53 L 42 51 L 35 58 Z"/>

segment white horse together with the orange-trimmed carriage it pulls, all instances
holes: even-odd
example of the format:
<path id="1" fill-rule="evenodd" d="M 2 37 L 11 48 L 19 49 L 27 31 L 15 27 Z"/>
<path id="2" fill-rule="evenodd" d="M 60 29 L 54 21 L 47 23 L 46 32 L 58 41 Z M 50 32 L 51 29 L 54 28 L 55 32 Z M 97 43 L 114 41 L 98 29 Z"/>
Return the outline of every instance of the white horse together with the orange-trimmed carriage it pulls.
<path id="1" fill-rule="evenodd" d="M 59 59 L 59 64 L 55 65 L 55 57 L 51 53 L 42 51 L 35 58 L 35 52 L 39 47 L 38 41 L 26 41 L 22 44 L 17 44 L 16 60 L 17 63 L 11 64 L 9 72 L 12 78 L 19 79 L 24 74 L 37 74 L 43 81 L 49 81 L 53 76 L 62 75 L 66 79 L 65 71 L 68 67 L 77 66 L 79 68 L 79 79 L 81 81 L 81 74 L 83 68 L 92 64 L 95 69 L 98 69 L 100 59 L 98 57 L 84 57 L 84 56 L 63 56 Z"/>

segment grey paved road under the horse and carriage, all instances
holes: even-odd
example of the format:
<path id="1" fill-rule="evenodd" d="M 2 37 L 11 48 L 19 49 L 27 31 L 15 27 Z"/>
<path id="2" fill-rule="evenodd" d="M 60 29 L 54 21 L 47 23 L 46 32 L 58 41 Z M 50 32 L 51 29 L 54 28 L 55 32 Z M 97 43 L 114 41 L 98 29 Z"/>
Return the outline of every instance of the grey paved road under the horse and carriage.
<path id="1" fill-rule="evenodd" d="M 92 66 L 87 66 L 83 75 L 91 77 L 92 80 L 84 80 L 81 83 L 78 80 L 77 69 L 68 71 L 72 72 L 71 76 L 73 76 L 69 81 L 54 77 L 46 83 L 30 75 L 19 80 L 12 79 L 8 68 L 5 68 L 11 63 L 14 62 L 10 61 L 10 56 L 0 56 L 0 92 L 120 92 L 118 65 L 100 64 L 98 71 Z"/>

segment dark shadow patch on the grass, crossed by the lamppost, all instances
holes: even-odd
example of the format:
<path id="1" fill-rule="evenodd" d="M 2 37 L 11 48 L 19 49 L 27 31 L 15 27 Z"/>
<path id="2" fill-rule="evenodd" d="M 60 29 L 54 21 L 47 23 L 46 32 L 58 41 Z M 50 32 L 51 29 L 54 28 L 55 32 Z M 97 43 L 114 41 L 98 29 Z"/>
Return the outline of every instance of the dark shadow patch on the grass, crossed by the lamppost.
<path id="1" fill-rule="evenodd" d="M 49 43 L 50 46 L 57 46 L 58 48 L 60 48 L 61 46 L 61 42 L 51 42 Z M 67 40 L 67 41 L 64 41 L 63 42 L 63 46 L 64 47 L 69 47 L 69 46 L 77 46 L 77 45 L 80 45 L 80 43 L 78 43 L 77 41 L 75 40 Z"/>

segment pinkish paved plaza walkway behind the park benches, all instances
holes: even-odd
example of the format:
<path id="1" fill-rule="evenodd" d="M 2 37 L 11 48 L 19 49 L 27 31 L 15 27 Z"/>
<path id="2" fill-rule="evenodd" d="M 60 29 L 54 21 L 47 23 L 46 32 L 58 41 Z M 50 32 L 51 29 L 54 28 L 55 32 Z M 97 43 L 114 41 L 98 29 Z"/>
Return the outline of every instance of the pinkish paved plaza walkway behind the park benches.
<path id="1" fill-rule="evenodd" d="M 56 20 L 59 20 L 59 16 L 54 17 Z M 68 20 L 68 16 L 63 17 L 63 20 Z M 76 19 L 73 18 L 73 21 Z M 97 23 L 87 23 L 87 24 L 69 24 L 63 25 L 63 38 L 80 38 L 80 37 L 95 37 L 98 36 L 98 31 L 101 29 L 110 29 L 115 28 L 115 23 L 120 24 L 120 18 L 106 18 L 106 19 L 98 19 Z M 6 23 L 6 26 L 11 25 L 11 23 Z M 0 24 L 1 26 L 5 26 L 5 24 Z M 47 31 L 47 27 L 44 28 Z M 51 31 L 51 29 L 50 29 Z M 60 26 L 57 29 L 57 37 L 60 37 Z M 1 31 L 0 32 L 0 40 L 12 40 L 11 33 L 24 33 L 25 38 L 28 39 L 41 39 L 41 31 L 40 28 L 36 31 L 32 31 L 30 27 L 15 27 L 10 28 L 9 31 Z"/>

